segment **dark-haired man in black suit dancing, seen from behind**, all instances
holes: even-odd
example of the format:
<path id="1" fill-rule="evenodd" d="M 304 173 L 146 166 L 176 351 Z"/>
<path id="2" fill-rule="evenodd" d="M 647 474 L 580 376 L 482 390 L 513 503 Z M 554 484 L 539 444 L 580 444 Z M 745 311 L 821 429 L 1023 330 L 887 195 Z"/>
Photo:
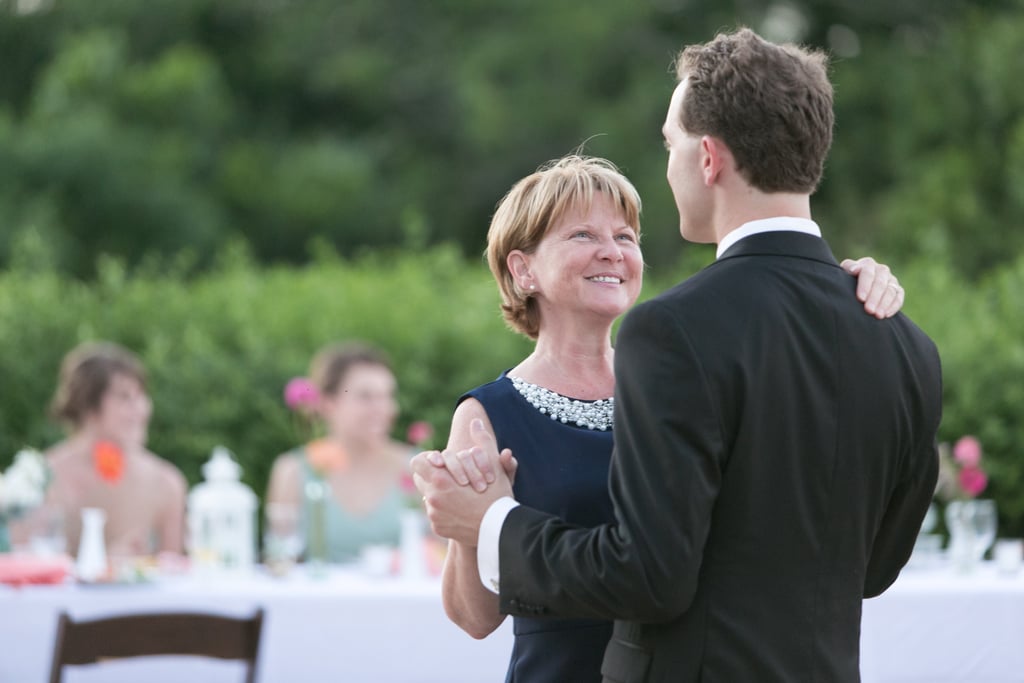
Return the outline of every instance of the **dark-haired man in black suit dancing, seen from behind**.
<path id="1" fill-rule="evenodd" d="M 483 495 L 425 456 L 417 482 L 434 528 L 478 544 L 503 611 L 616 620 L 606 681 L 858 681 L 861 601 L 935 489 L 938 353 L 904 315 L 863 314 L 811 221 L 824 56 L 740 30 L 677 73 L 669 184 L 683 237 L 719 257 L 621 328 L 616 523 L 517 506 L 482 426 Z"/>

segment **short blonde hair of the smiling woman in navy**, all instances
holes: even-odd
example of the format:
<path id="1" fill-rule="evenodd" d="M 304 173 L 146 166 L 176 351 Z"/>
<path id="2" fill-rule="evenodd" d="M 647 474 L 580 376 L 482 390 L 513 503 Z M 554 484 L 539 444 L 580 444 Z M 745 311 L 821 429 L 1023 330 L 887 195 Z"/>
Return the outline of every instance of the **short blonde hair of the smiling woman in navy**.
<path id="1" fill-rule="evenodd" d="M 623 211 L 640 238 L 640 195 L 610 161 L 569 155 L 550 161 L 512 186 L 498 203 L 487 230 L 487 264 L 502 295 L 509 327 L 530 339 L 541 329 L 541 311 L 530 292 L 520 289 L 508 267 L 514 250 L 530 254 L 566 213 L 589 212 L 603 193 Z"/>

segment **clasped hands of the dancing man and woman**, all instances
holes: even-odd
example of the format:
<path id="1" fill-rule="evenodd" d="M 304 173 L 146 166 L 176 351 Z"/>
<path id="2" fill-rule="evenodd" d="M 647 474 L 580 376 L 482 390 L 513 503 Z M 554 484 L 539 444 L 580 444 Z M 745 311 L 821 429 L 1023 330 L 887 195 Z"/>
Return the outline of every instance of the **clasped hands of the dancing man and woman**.
<path id="1" fill-rule="evenodd" d="M 434 533 L 476 547 L 487 508 L 512 496 L 518 463 L 508 449 L 498 453 L 495 436 L 481 420 L 470 423 L 470 437 L 474 445 L 463 451 L 417 454 L 412 469 Z"/>

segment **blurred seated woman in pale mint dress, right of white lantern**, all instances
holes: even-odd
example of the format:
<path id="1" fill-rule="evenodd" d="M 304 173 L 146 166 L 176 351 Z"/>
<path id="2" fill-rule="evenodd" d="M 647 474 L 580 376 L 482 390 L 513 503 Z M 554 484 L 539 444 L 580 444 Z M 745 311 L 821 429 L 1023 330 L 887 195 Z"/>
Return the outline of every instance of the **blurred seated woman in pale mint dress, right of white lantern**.
<path id="1" fill-rule="evenodd" d="M 397 545 L 413 449 L 391 438 L 397 383 L 386 357 L 364 344 L 329 346 L 310 375 L 319 394 L 314 417 L 326 434 L 278 457 L 266 503 L 302 508 L 307 556 L 317 554 L 317 535 L 331 562 L 353 560 L 369 545 Z M 323 492 L 322 506 L 310 490 Z"/>

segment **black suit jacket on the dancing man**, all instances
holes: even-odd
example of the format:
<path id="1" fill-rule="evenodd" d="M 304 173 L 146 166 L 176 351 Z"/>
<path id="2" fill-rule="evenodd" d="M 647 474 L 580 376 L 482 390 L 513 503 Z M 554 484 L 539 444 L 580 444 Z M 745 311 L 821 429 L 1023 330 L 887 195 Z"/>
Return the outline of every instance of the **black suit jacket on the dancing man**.
<path id="1" fill-rule="evenodd" d="M 512 510 L 502 610 L 617 620 L 606 681 L 858 681 L 861 601 L 935 490 L 941 379 L 932 341 L 854 290 L 823 240 L 767 232 L 634 308 L 616 523 Z"/>

